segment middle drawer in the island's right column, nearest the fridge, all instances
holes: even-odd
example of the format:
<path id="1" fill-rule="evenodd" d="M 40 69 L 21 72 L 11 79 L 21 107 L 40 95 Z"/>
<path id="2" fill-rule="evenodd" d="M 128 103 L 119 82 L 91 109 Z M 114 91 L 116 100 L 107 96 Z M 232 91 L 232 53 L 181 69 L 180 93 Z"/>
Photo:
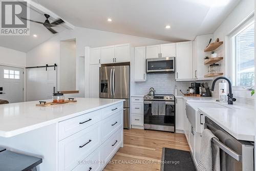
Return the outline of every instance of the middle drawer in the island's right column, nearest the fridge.
<path id="1" fill-rule="evenodd" d="M 101 135 L 102 142 L 108 139 L 122 125 L 123 111 L 119 111 L 115 115 L 102 121 Z"/>

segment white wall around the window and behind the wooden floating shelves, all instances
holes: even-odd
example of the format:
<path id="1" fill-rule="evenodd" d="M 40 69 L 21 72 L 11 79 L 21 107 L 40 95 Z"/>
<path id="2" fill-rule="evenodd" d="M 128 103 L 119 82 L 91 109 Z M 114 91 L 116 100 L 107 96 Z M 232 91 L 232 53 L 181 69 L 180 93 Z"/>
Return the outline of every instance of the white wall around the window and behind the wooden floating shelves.
<path id="1" fill-rule="evenodd" d="M 224 41 L 224 44 L 217 49 L 218 56 L 224 57 L 224 60 L 221 62 L 221 68 L 224 72 L 224 76 L 229 77 L 230 72 L 227 70 L 228 63 L 231 63 L 229 57 L 228 49 L 228 36 L 229 34 L 236 29 L 244 20 L 252 14 L 254 11 L 254 0 L 243 0 L 241 1 L 236 8 L 228 15 L 220 27 L 214 32 L 214 41 L 216 38 L 219 38 L 220 41 Z M 230 77 L 229 77 L 230 78 Z M 217 84 L 218 85 L 218 84 Z M 215 89 L 215 96 L 218 96 L 218 87 Z M 233 91 L 234 97 L 243 97 L 252 99 L 249 91 Z"/>

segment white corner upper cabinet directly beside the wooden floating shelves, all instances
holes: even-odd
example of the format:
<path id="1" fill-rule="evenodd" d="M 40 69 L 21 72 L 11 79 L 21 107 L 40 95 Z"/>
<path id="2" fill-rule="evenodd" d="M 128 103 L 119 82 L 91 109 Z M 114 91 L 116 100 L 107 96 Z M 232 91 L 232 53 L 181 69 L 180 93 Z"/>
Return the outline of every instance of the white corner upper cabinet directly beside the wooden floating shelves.
<path id="1" fill-rule="evenodd" d="M 204 65 L 204 58 L 207 53 L 204 49 L 209 44 L 209 40 L 213 39 L 212 34 L 197 36 L 193 42 L 193 78 L 205 79 L 204 75 L 208 74 L 208 66 Z M 212 79 L 212 78 L 207 78 Z"/>

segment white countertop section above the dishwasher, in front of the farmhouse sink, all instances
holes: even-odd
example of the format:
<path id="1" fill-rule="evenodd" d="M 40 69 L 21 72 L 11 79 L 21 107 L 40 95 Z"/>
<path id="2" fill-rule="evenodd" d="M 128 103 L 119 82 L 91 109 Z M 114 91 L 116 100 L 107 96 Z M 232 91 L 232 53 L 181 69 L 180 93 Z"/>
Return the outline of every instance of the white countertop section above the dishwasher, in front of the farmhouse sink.
<path id="1" fill-rule="evenodd" d="M 199 108 L 199 110 L 234 138 L 254 141 L 254 110 L 245 108 Z"/>

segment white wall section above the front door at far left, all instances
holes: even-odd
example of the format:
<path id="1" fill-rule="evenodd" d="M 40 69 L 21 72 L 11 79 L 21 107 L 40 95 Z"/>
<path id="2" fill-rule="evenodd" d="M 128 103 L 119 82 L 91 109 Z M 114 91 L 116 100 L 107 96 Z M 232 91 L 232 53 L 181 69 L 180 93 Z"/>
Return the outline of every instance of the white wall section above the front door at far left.
<path id="1" fill-rule="evenodd" d="M 0 47 L 0 65 L 26 67 L 26 53 Z"/>

